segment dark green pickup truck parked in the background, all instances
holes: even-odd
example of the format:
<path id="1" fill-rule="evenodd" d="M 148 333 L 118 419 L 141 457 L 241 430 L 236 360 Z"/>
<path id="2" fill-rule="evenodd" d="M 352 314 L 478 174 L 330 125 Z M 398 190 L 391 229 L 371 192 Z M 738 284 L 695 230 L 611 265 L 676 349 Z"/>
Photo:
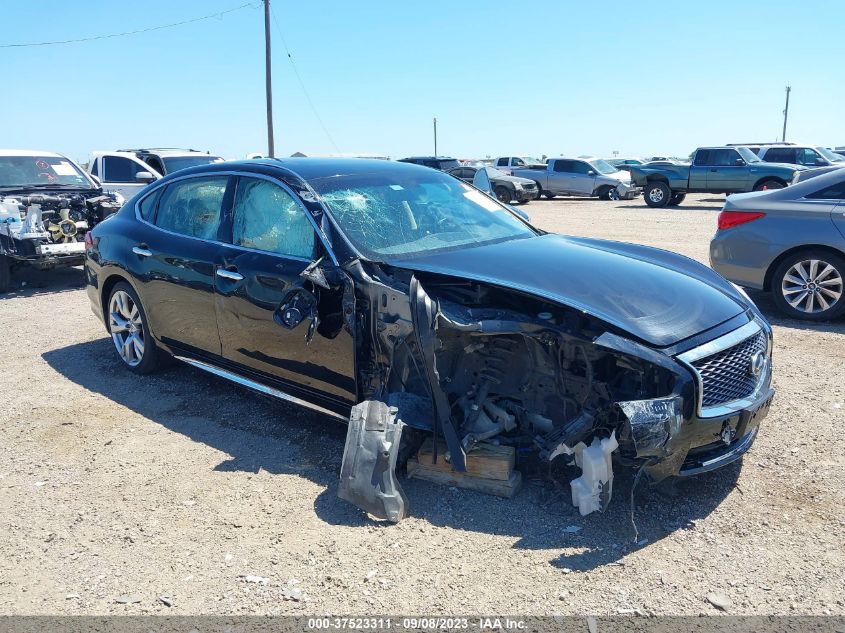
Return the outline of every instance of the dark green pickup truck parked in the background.
<path id="1" fill-rule="evenodd" d="M 700 147 L 692 164 L 665 163 L 631 168 L 650 207 L 676 206 L 687 193 L 742 193 L 782 189 L 804 169 L 766 163 L 747 147 Z"/>

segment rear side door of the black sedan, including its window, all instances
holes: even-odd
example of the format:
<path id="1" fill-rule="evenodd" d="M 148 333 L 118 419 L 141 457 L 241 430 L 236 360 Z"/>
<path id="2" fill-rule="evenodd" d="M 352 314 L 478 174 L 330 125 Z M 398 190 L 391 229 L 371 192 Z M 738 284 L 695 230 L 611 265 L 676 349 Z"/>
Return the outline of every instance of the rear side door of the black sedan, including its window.
<path id="1" fill-rule="evenodd" d="M 148 217 L 128 256 L 154 336 L 203 355 L 220 354 L 214 273 L 229 182 L 225 175 L 182 178 L 142 200 Z"/>

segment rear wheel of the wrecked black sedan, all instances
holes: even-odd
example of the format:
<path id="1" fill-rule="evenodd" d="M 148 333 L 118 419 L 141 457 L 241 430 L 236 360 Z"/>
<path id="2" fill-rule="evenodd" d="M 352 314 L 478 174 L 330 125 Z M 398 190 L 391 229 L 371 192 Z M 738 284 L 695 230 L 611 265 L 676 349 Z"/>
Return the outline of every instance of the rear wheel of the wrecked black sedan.
<path id="1" fill-rule="evenodd" d="M 163 352 L 150 334 L 147 314 L 132 286 L 124 281 L 115 284 L 105 313 L 106 327 L 123 365 L 136 374 L 157 370 L 162 365 Z"/>

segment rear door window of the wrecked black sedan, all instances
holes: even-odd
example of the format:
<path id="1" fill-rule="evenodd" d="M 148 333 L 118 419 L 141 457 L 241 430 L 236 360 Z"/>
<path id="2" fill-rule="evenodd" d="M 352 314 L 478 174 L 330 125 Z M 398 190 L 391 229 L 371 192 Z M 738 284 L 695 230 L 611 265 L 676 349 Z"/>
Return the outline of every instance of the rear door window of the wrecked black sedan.
<path id="1" fill-rule="evenodd" d="M 228 176 L 205 176 L 168 185 L 159 201 L 156 226 L 181 235 L 217 240 L 228 182 Z"/>

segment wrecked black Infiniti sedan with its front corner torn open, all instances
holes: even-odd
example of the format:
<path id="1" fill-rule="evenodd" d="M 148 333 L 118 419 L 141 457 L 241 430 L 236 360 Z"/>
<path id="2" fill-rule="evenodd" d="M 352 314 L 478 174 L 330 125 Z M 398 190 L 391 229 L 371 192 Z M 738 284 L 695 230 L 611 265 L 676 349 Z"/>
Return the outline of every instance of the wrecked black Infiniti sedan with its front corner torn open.
<path id="1" fill-rule="evenodd" d="M 92 233 L 88 296 L 126 368 L 172 355 L 348 419 L 338 494 L 390 521 L 414 438 L 458 472 L 490 441 L 574 461 L 586 514 L 614 456 L 653 481 L 738 459 L 774 394 L 771 328 L 708 267 L 545 233 L 417 165 L 191 168 Z"/>

